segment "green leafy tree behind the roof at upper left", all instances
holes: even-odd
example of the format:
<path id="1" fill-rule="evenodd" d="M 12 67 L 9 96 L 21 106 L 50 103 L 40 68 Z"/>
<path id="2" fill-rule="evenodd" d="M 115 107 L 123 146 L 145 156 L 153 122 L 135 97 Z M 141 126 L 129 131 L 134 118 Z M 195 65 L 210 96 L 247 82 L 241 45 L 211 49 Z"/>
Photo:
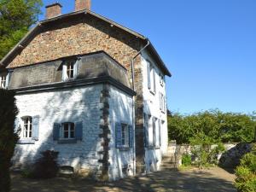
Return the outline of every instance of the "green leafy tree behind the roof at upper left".
<path id="1" fill-rule="evenodd" d="M 38 21 L 41 0 L 0 0 L 0 60 Z"/>

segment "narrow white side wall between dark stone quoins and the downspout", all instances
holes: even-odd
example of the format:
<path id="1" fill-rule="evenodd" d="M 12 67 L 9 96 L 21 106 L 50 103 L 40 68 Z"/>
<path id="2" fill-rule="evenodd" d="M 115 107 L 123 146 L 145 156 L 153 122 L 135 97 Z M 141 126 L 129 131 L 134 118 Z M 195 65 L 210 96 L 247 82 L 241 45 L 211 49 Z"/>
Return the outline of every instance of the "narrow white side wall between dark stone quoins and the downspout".
<path id="1" fill-rule="evenodd" d="M 111 127 L 111 136 L 109 143 L 109 178 L 116 180 L 119 177 L 125 177 L 122 167 L 128 165 L 129 175 L 133 175 L 133 154 L 134 148 L 121 150 L 115 145 L 115 123 L 123 122 L 132 125 L 132 97 L 117 88 L 110 87 L 109 97 L 109 123 Z"/>

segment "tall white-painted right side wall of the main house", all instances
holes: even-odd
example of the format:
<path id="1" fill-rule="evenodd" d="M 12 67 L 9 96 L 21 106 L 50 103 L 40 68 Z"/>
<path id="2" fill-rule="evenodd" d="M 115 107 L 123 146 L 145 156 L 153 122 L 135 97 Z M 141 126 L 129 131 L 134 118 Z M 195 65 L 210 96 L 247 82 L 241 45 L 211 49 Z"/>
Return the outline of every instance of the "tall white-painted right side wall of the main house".
<path id="1" fill-rule="evenodd" d="M 146 148 L 145 162 L 146 169 L 148 171 L 154 171 L 160 169 L 160 163 L 162 155 L 166 153 L 168 147 L 168 131 L 167 131 L 167 113 L 160 111 L 160 99 L 159 93 L 161 92 L 166 97 L 166 83 L 164 81 L 163 86 L 160 84 L 160 69 L 156 66 L 154 59 L 148 55 L 147 51 L 142 53 L 142 72 L 143 72 L 143 97 L 144 97 L 144 113 L 151 114 L 157 119 L 164 121 L 161 126 L 161 147 L 148 149 Z M 148 90 L 148 68 L 147 61 L 150 61 L 154 65 L 155 70 L 155 84 L 156 91 L 152 94 Z M 163 75 L 163 74 L 162 74 Z M 151 79 L 153 80 L 153 79 Z M 151 163 L 151 165 L 150 165 Z"/>

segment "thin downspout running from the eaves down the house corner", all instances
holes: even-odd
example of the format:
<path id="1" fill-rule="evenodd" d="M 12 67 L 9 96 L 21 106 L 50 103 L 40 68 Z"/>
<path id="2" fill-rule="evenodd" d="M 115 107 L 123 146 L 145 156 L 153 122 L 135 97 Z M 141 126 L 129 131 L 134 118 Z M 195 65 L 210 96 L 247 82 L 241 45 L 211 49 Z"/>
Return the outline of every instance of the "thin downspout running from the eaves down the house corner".
<path id="1" fill-rule="evenodd" d="M 148 40 L 148 39 L 147 39 Z M 146 44 L 143 49 L 141 49 L 137 55 L 135 55 L 131 59 L 131 75 L 132 75 L 132 90 L 135 91 L 135 83 L 134 83 L 134 61 L 137 58 L 138 55 L 140 55 L 144 49 L 146 49 L 150 44 L 150 41 L 148 40 L 148 44 Z M 136 137 L 135 137 L 135 96 L 132 96 L 132 129 L 133 129 L 133 175 L 136 175 L 136 151 L 135 151 L 135 145 L 136 145 Z"/>

